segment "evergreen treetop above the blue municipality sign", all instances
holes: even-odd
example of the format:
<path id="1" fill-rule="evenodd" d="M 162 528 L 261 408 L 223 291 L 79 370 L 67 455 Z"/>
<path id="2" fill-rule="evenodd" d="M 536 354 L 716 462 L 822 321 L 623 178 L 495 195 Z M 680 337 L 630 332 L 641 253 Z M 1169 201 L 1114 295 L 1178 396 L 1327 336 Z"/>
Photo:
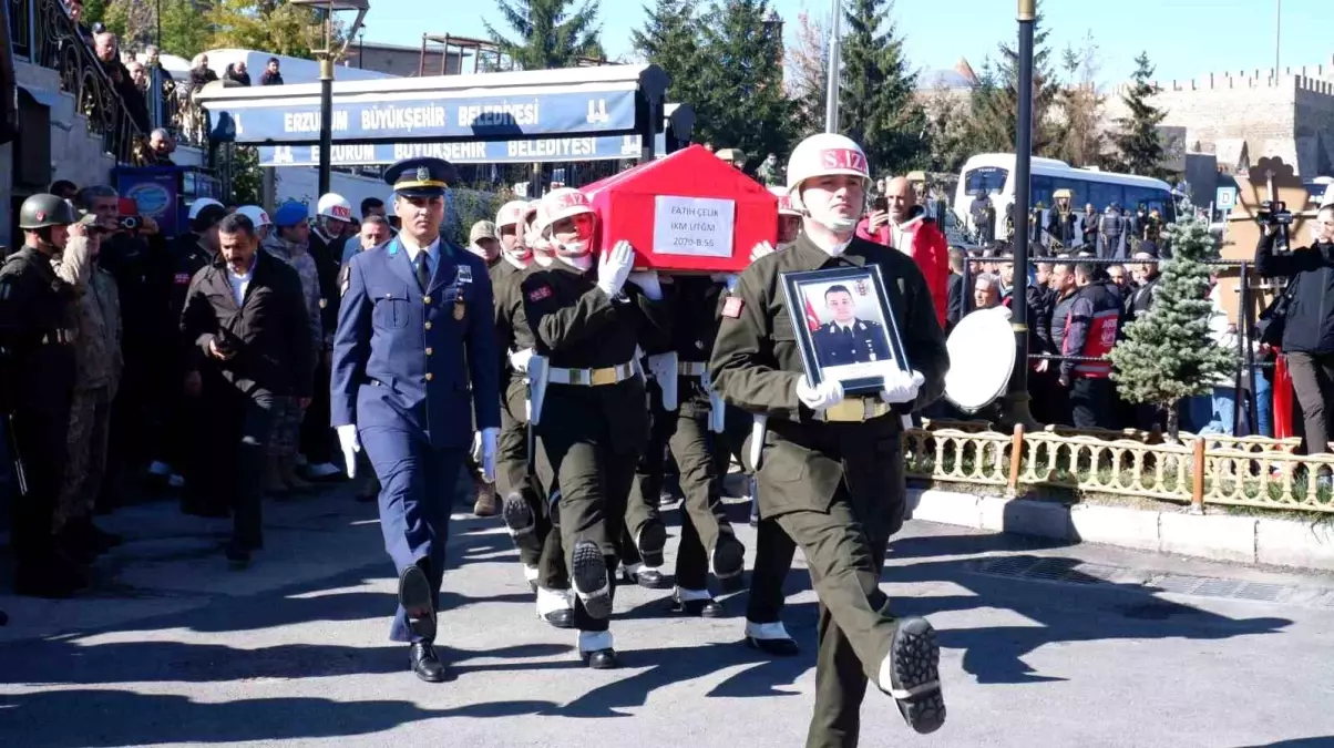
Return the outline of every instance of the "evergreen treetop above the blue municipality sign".
<path id="1" fill-rule="evenodd" d="M 498 0 L 496 5 L 516 36 L 483 24 L 500 53 L 520 69 L 572 68 L 580 57 L 603 56 L 596 0 L 583 0 L 576 9 L 574 0 Z"/>

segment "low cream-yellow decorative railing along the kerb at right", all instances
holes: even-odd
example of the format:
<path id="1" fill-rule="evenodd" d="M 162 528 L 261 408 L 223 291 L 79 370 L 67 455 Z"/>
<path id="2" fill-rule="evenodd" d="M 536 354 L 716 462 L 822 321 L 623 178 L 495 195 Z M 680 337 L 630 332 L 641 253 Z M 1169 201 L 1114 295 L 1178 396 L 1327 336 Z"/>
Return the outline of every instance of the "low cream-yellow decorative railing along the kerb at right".
<path id="1" fill-rule="evenodd" d="M 1125 496 L 1334 513 L 1334 455 L 1298 455 L 1299 440 L 1157 432 L 1013 435 L 976 423 L 927 421 L 904 435 L 908 477 L 939 484 L 991 485 L 1007 496 L 1063 493 Z"/>

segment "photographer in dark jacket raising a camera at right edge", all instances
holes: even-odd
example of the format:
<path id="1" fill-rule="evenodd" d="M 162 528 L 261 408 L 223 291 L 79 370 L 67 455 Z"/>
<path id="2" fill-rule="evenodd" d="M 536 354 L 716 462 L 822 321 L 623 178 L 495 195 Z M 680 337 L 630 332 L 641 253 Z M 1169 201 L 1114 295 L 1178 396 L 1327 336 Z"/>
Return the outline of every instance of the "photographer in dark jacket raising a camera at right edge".
<path id="1" fill-rule="evenodd" d="M 1291 252 L 1275 253 L 1279 235 L 1287 237 L 1293 215 L 1279 204 L 1261 213 L 1265 231 L 1255 247 L 1255 272 L 1286 277 L 1290 301 L 1283 313 L 1282 349 L 1293 376 L 1293 389 L 1306 425 L 1306 453 L 1329 451 L 1329 413 L 1334 409 L 1334 205 L 1315 215 L 1314 241 Z M 1321 479 L 1329 483 L 1329 476 Z"/>

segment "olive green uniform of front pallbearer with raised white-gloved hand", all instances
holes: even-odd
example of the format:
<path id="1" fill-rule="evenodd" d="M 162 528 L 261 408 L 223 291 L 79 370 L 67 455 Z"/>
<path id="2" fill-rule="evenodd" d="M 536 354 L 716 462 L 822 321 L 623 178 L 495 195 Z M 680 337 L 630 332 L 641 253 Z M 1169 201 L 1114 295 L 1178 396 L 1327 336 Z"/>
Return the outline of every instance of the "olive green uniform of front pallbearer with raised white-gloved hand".
<path id="1" fill-rule="evenodd" d="M 607 296 L 596 271 L 580 273 L 563 264 L 524 275 L 520 291 L 535 352 L 552 369 L 582 369 L 580 381 L 587 381 L 552 380 L 535 427 L 559 484 L 566 565 L 576 572 L 575 545 L 591 541 L 602 549 L 614 588 L 626 503 L 648 436 L 642 377 L 614 379 L 634 361 L 640 341 L 652 345 L 668 335 L 666 305 L 628 281 L 615 297 Z M 575 628 L 606 631 L 607 619 L 590 616 L 576 599 Z"/>

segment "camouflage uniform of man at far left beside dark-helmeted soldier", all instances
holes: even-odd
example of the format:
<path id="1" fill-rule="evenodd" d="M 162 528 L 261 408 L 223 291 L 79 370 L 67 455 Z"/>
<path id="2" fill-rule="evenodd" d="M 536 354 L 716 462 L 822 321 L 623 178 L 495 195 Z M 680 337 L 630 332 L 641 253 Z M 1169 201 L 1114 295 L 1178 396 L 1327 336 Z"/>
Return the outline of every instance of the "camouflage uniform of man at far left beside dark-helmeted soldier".
<path id="1" fill-rule="evenodd" d="M 80 241 L 71 239 L 71 243 Z M 65 252 L 68 255 L 69 252 Z M 77 271 L 64 261 L 52 259 L 61 277 Z M 93 265 L 84 284 L 75 284 L 77 304 L 71 308 L 69 327 L 77 329 L 75 339 L 75 388 L 69 408 L 65 473 L 60 485 L 55 528 L 67 521 L 88 517 L 107 473 L 107 429 L 111 421 L 111 403 L 120 387 L 124 359 L 120 352 L 120 295 L 116 279 Z"/>

